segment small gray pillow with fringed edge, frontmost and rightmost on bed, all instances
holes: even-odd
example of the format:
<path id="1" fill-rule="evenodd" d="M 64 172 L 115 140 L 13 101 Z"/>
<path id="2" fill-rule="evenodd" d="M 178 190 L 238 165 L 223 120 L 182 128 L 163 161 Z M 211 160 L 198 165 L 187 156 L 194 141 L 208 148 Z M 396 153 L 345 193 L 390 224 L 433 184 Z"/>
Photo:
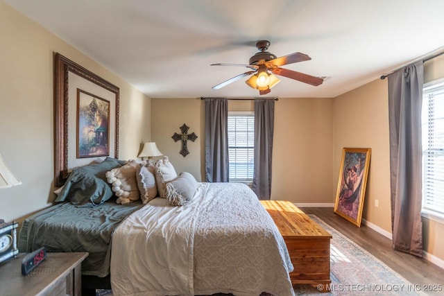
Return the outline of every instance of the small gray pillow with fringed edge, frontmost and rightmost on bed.
<path id="1" fill-rule="evenodd" d="M 173 206 L 185 205 L 193 198 L 198 182 L 190 173 L 180 173 L 179 177 L 165 184 L 165 198 Z"/>

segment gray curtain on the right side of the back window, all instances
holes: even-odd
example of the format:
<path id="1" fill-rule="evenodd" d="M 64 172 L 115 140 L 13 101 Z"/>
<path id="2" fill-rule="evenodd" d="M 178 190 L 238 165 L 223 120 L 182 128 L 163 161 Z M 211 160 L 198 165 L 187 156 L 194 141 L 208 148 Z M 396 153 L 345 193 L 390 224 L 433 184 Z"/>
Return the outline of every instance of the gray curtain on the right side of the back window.
<path id="1" fill-rule="evenodd" d="M 273 129 L 275 100 L 255 100 L 255 168 L 253 191 L 259 200 L 271 197 L 271 155 L 273 154 Z"/>

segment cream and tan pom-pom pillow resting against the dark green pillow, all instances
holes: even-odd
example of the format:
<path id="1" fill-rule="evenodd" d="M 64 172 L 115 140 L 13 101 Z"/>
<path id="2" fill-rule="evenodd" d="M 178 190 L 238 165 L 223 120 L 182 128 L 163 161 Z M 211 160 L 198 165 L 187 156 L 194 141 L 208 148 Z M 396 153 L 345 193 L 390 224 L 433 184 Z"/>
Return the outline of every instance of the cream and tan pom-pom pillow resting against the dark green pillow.
<path id="1" fill-rule="evenodd" d="M 136 172 L 140 167 L 135 160 L 130 160 L 128 164 L 120 168 L 113 168 L 106 173 L 108 183 L 112 184 L 112 191 L 116 193 L 118 204 L 129 204 L 139 200 L 140 193 L 137 187 Z"/>

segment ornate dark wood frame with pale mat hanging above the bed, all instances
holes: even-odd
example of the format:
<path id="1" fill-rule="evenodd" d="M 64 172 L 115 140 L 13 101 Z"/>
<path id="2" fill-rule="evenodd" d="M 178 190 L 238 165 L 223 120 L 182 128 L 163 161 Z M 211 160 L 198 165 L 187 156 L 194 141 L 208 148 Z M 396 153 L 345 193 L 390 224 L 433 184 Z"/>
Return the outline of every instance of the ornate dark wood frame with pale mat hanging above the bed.
<path id="1" fill-rule="evenodd" d="M 108 151 L 78 157 L 78 89 L 110 103 Z M 54 186 L 65 184 L 69 172 L 104 156 L 119 157 L 119 87 L 60 53 L 54 55 Z"/>

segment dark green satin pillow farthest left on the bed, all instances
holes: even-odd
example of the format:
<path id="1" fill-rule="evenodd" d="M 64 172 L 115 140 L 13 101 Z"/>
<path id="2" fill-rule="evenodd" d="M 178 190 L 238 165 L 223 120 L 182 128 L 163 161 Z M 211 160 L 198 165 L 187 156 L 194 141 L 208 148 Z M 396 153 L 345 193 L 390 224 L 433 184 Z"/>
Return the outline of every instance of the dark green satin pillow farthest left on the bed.
<path id="1" fill-rule="evenodd" d="M 99 164 L 89 164 L 75 168 L 58 194 L 55 202 L 71 202 L 78 206 L 93 207 L 114 196 L 111 186 L 106 182 L 106 172 L 119 168 L 122 162 L 107 157 Z"/>

